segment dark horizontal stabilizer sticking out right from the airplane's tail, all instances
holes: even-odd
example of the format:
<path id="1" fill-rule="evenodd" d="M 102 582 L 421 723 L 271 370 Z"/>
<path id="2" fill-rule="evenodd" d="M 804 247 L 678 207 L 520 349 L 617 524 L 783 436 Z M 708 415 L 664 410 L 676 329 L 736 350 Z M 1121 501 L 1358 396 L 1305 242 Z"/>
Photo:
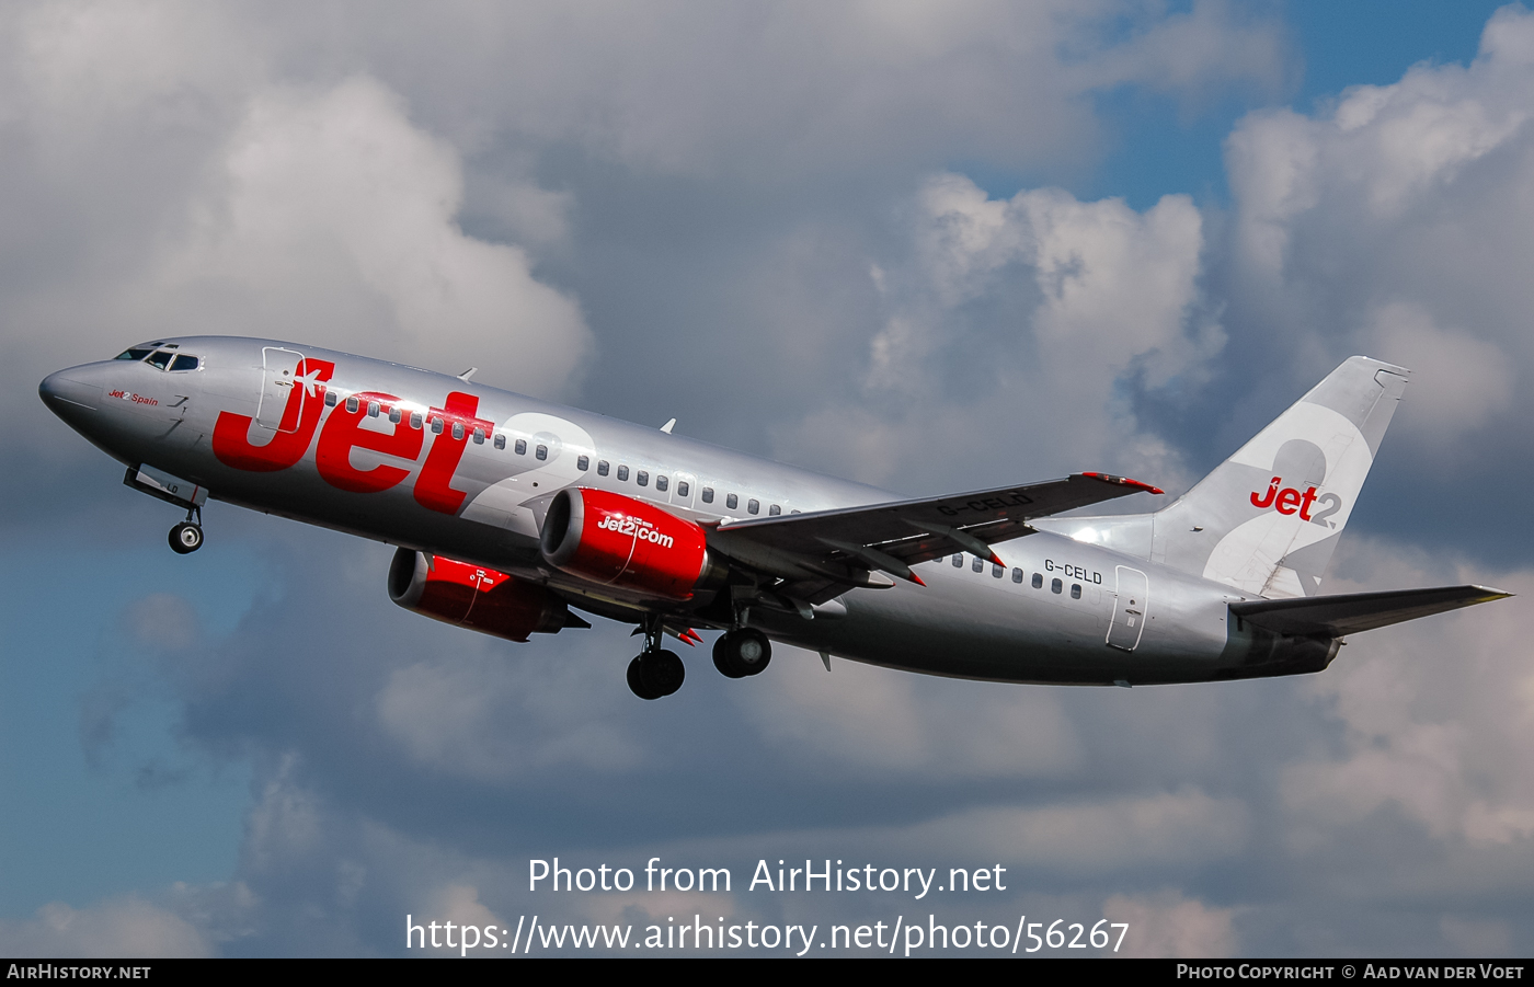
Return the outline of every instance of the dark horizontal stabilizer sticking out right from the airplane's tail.
<path id="1" fill-rule="evenodd" d="M 1279 634 L 1342 638 L 1508 596 L 1513 593 L 1485 585 L 1440 585 L 1428 590 L 1249 599 L 1230 604 L 1230 613 Z"/>

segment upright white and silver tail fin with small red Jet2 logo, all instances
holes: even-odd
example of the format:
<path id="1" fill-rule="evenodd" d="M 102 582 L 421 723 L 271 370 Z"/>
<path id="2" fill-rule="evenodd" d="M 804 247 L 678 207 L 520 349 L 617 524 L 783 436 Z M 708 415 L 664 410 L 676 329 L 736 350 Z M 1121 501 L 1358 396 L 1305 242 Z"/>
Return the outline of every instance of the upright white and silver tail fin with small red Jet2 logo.
<path id="1" fill-rule="evenodd" d="M 1410 371 L 1351 357 L 1152 515 L 1150 558 L 1261 596 L 1312 596 Z"/>

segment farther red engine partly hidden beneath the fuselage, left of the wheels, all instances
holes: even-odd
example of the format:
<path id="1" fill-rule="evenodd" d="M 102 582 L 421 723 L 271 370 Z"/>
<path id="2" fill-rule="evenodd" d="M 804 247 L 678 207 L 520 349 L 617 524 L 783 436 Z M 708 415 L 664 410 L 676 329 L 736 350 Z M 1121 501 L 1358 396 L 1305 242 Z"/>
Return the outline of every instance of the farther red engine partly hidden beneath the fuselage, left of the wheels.
<path id="1" fill-rule="evenodd" d="M 414 613 L 511 641 L 580 622 L 563 599 L 537 582 L 410 549 L 394 553 L 388 598 Z"/>

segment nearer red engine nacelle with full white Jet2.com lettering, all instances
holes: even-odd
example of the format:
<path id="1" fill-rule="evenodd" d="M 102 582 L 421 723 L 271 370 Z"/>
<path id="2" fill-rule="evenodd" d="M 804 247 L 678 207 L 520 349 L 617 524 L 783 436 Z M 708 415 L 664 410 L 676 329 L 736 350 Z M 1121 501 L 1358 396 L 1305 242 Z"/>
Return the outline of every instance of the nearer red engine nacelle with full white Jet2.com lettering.
<path id="1" fill-rule="evenodd" d="M 701 527 L 653 504 L 571 487 L 549 503 L 543 558 L 600 582 L 664 599 L 692 599 L 719 575 Z"/>

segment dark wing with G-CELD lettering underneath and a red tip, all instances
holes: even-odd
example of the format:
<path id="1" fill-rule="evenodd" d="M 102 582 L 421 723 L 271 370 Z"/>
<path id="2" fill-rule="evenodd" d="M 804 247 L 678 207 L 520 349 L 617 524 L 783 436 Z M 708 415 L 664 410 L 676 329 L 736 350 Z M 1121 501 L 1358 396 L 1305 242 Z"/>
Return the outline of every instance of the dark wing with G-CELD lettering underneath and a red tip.
<path id="1" fill-rule="evenodd" d="M 911 566 L 956 552 L 1000 559 L 991 544 L 1031 535 L 1028 521 L 1157 487 L 1108 474 L 902 500 L 870 507 L 732 521 L 709 530 L 709 546 L 785 579 L 785 590 L 816 602 L 853 585 L 913 582 Z"/>

